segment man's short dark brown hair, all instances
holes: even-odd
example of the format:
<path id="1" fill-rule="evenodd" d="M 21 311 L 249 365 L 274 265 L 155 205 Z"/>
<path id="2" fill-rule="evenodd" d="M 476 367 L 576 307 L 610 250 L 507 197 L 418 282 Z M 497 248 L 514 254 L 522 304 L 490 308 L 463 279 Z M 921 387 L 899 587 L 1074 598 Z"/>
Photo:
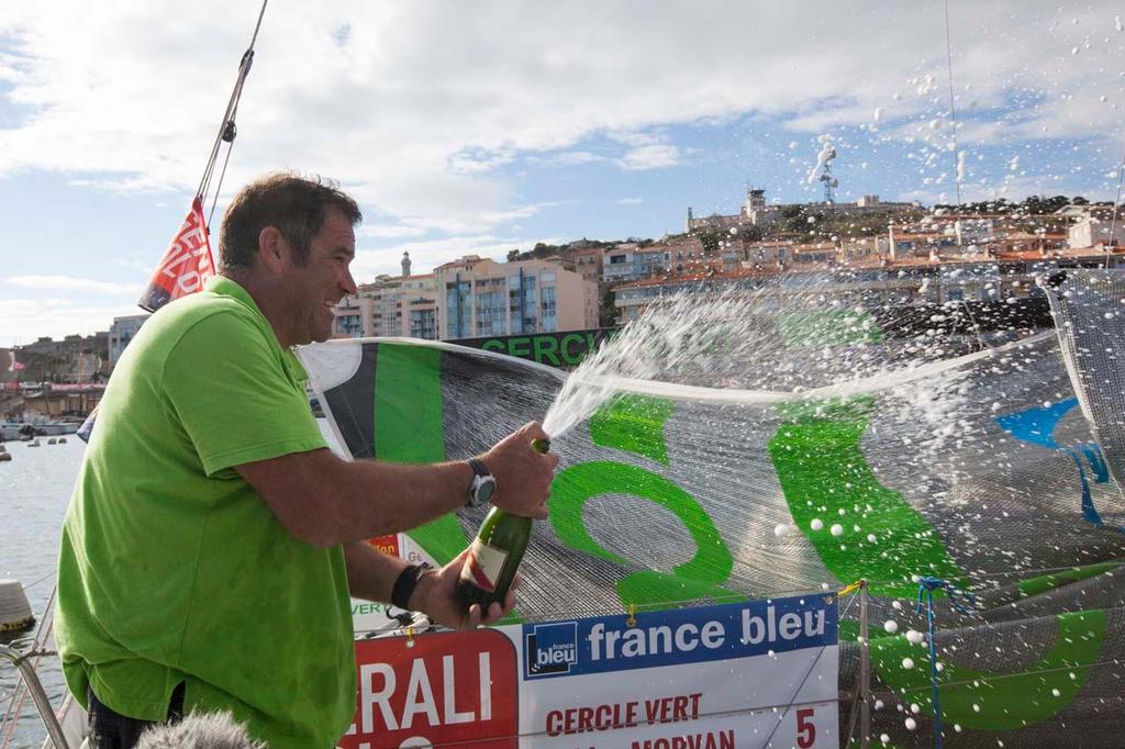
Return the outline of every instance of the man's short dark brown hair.
<path id="1" fill-rule="evenodd" d="M 254 267 L 258 235 L 267 226 L 281 232 L 294 251 L 297 264 L 308 262 L 313 235 L 328 210 L 339 210 L 352 226 L 363 219 L 359 206 L 334 182 L 320 177 L 299 177 L 288 172 L 267 174 L 242 188 L 223 216 L 219 237 L 219 271 Z"/>

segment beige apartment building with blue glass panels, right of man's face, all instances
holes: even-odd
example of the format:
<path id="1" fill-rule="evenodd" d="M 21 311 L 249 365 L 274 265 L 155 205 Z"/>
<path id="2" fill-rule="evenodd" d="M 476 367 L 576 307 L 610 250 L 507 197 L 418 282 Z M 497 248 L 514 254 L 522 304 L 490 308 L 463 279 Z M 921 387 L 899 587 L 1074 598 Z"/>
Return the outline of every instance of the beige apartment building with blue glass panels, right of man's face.
<path id="1" fill-rule="evenodd" d="M 597 327 L 597 285 L 558 262 L 467 255 L 434 277 L 447 341 Z"/>

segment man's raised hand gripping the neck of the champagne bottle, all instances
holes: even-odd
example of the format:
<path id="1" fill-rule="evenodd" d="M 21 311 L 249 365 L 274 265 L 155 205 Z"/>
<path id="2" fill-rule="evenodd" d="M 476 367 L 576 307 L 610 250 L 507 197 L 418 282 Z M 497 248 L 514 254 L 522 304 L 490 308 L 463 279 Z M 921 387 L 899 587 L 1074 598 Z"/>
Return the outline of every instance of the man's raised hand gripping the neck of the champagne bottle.
<path id="1" fill-rule="evenodd" d="M 547 517 L 547 498 L 559 458 L 539 452 L 531 446 L 531 441 L 549 439 L 539 422 L 529 422 L 480 457 L 496 478 L 496 494 L 492 499 L 495 506 L 513 515 Z"/>

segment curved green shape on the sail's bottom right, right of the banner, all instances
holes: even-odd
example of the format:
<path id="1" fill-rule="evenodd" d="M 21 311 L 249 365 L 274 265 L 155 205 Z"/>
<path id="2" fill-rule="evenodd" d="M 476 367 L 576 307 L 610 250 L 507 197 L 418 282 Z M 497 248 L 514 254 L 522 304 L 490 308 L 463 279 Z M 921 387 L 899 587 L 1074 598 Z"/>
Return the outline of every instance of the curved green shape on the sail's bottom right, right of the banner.
<path id="1" fill-rule="evenodd" d="M 1056 624 L 1054 646 L 1023 671 L 986 674 L 943 659 L 937 675 L 943 719 L 969 729 L 1012 730 L 1045 721 L 1066 707 L 1098 660 L 1106 615 L 1078 611 L 1060 614 Z M 907 657 L 915 661 L 911 669 L 902 667 Z M 871 662 L 907 703 L 930 704 L 929 658 L 924 648 L 901 635 L 873 639 Z"/>

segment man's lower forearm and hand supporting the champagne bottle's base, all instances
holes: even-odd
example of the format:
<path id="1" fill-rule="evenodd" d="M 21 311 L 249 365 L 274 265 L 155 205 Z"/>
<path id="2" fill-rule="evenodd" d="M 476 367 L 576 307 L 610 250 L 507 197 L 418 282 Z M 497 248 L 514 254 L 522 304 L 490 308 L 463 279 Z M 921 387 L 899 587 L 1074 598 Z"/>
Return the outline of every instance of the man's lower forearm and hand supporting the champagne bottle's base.
<path id="1" fill-rule="evenodd" d="M 521 581 L 519 575 L 508 589 L 503 606 L 494 603 L 487 612 L 482 612 L 479 604 L 472 604 L 468 612 L 459 608 L 457 578 L 465 565 L 466 553 L 468 550 L 441 569 L 428 570 L 418 578 L 417 587 L 411 594 L 411 611 L 420 611 L 439 624 L 461 630 L 492 624 L 512 611 L 515 590 Z M 410 566 L 410 562 L 385 554 L 363 541 L 344 544 L 344 560 L 348 565 L 348 587 L 352 596 L 368 601 L 389 602 L 395 580 Z"/>

